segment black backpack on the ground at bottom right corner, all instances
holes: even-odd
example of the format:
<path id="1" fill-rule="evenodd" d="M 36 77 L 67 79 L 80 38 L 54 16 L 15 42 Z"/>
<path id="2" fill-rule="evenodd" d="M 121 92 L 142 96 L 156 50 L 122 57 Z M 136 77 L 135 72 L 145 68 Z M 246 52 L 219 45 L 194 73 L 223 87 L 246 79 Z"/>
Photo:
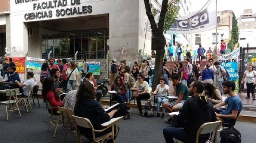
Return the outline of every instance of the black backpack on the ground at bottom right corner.
<path id="1" fill-rule="evenodd" d="M 221 143 L 241 143 L 241 133 L 233 126 L 223 129 L 219 135 Z"/>

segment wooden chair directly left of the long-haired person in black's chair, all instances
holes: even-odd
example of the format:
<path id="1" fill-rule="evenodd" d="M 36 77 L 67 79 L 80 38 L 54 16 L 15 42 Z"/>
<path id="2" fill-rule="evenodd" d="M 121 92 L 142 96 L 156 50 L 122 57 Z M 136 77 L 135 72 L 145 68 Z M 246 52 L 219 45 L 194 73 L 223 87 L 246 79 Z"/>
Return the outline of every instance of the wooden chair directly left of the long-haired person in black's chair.
<path id="1" fill-rule="evenodd" d="M 82 135 L 79 135 L 77 132 L 76 132 L 76 125 L 75 125 L 75 122 L 73 120 L 73 112 L 72 110 L 70 109 L 66 109 L 66 108 L 63 108 L 63 107 L 58 107 L 58 110 L 60 112 L 60 115 L 62 117 L 62 122 L 63 122 L 63 127 L 66 128 L 66 132 L 64 134 L 64 137 L 63 137 L 63 143 L 65 142 L 66 140 L 66 136 L 72 136 L 72 137 L 75 137 L 76 138 L 76 143 L 78 142 L 78 139 L 80 139 L 80 137 L 83 137 Z"/>

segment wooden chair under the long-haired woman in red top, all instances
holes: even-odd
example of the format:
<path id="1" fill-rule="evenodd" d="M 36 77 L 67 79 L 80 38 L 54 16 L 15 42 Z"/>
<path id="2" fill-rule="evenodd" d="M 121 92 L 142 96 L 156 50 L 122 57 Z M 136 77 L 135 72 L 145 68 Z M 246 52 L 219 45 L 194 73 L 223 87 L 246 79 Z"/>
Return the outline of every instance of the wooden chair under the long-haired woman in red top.
<path id="1" fill-rule="evenodd" d="M 47 132 L 49 132 L 50 125 L 52 124 L 52 125 L 54 126 L 53 137 L 55 137 L 56 132 L 57 132 L 57 128 L 58 128 L 59 126 L 62 126 L 63 123 L 62 123 L 62 120 L 60 120 L 60 114 L 59 114 L 59 113 L 54 114 L 54 112 L 53 112 L 53 107 L 51 106 L 50 102 L 48 102 L 47 100 L 45 100 L 45 103 L 46 103 L 48 112 L 51 114 L 51 118 L 50 118 L 50 122 L 49 122 L 49 125 L 48 125 L 48 130 L 47 130 Z M 57 120 L 53 120 L 53 116 L 58 116 Z"/>

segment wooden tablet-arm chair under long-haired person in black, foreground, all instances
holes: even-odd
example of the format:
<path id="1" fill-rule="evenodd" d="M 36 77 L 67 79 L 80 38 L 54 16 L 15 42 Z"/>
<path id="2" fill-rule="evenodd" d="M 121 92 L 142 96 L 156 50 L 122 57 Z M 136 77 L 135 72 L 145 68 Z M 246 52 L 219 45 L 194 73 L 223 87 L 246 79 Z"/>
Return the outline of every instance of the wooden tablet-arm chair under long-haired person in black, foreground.
<path id="1" fill-rule="evenodd" d="M 112 139 L 113 143 L 115 143 L 114 136 L 117 136 L 117 132 L 118 132 L 117 123 L 119 122 L 119 120 L 123 119 L 123 117 L 113 118 L 110 121 L 101 124 L 102 127 L 105 127 L 104 129 L 95 130 L 94 127 L 92 126 L 92 123 L 87 118 L 78 117 L 78 116 L 74 116 L 74 115 L 72 117 L 75 120 L 76 132 L 77 133 L 79 133 L 79 130 L 78 130 L 77 126 L 92 129 L 92 140 L 93 140 L 93 143 L 98 143 L 98 142 L 103 143 L 105 139 Z M 114 134 L 114 125 L 115 124 L 116 124 L 116 129 L 115 129 L 116 130 L 116 134 Z M 108 128 L 110 128 L 110 127 L 112 128 L 111 132 L 108 132 L 108 133 L 106 133 L 106 134 L 104 134 L 103 136 L 100 136 L 100 137 L 95 137 L 95 132 L 96 133 L 101 133 L 101 132 L 104 132 L 105 130 L 107 130 Z M 82 139 L 83 138 L 80 137 L 80 143 L 82 143 Z"/>

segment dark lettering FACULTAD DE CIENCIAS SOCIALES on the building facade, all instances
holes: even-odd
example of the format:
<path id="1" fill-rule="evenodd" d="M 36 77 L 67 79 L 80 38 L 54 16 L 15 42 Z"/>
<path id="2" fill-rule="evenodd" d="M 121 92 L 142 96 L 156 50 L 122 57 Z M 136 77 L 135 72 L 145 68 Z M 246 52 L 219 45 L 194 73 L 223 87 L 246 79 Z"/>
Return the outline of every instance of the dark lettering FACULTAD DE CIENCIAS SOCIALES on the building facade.
<path id="1" fill-rule="evenodd" d="M 33 3 L 33 10 L 44 10 L 37 11 L 33 13 L 24 14 L 25 20 L 33 20 L 33 19 L 43 19 L 43 18 L 51 18 L 53 16 L 52 8 L 59 8 L 67 6 L 67 1 L 70 1 L 71 5 L 80 4 L 80 0 L 53 0 L 53 1 L 43 1 L 41 3 Z M 18 4 L 18 3 L 16 3 Z M 56 9 L 56 16 L 69 16 L 75 14 L 86 14 L 92 12 L 92 6 L 82 6 L 82 7 L 70 7 L 66 9 Z"/>

